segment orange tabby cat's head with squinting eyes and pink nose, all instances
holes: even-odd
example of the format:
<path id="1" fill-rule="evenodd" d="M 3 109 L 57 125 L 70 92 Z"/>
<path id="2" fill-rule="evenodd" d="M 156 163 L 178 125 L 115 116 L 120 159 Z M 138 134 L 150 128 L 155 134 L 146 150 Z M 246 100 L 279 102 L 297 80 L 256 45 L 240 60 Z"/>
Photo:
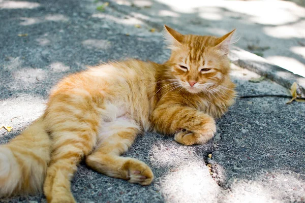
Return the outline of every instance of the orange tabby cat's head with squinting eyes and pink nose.
<path id="1" fill-rule="evenodd" d="M 191 93 L 213 91 L 229 75 L 229 45 L 235 29 L 217 38 L 182 35 L 165 25 L 164 37 L 172 50 L 167 64 L 170 74 Z"/>

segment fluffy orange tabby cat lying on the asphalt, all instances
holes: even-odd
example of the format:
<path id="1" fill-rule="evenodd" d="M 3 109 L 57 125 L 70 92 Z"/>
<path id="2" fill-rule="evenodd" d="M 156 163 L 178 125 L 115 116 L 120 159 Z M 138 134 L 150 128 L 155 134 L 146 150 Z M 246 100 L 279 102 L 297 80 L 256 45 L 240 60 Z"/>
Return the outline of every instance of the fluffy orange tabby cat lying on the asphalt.
<path id="1" fill-rule="evenodd" d="M 0 146 L 0 196 L 43 189 L 48 202 L 75 202 L 70 180 L 83 157 L 102 174 L 149 185 L 150 168 L 120 155 L 146 131 L 182 145 L 214 136 L 215 119 L 234 103 L 227 57 L 234 31 L 182 35 L 165 25 L 171 56 L 164 64 L 130 59 L 64 78 L 44 114 Z"/>

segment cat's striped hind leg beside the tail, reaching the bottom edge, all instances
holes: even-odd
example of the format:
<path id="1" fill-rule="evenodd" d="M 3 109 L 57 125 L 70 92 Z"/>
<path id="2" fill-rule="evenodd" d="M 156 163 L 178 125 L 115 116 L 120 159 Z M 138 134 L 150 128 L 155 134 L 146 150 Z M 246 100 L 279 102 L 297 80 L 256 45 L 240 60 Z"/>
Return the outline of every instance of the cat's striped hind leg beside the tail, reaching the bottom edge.
<path id="1" fill-rule="evenodd" d="M 88 155 L 96 143 L 93 129 L 67 128 L 52 132 L 53 151 L 44 182 L 47 201 L 52 203 L 73 203 L 71 179 L 81 158 Z"/>

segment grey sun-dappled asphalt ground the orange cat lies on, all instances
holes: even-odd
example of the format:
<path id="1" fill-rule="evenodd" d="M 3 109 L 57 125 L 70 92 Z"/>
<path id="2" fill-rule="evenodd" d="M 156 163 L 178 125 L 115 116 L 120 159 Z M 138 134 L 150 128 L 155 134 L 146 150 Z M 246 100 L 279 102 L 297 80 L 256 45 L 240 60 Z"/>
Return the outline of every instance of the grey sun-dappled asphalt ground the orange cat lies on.
<path id="1" fill-rule="evenodd" d="M 65 75 L 109 60 L 164 62 L 169 56 L 160 32 L 110 6 L 98 11 L 101 3 L 93 1 L 13 3 L 0 1 L 0 125 L 13 127 L 0 130 L 0 144 L 42 114 L 48 92 Z M 250 82 L 260 76 L 235 65 L 231 76 L 239 95 L 289 95 L 270 80 Z M 124 156 L 152 168 L 151 185 L 110 178 L 81 163 L 72 193 L 78 202 L 304 202 L 305 105 L 287 100 L 237 98 L 206 145 L 140 136 Z M 0 201 L 46 202 L 43 194 Z"/>

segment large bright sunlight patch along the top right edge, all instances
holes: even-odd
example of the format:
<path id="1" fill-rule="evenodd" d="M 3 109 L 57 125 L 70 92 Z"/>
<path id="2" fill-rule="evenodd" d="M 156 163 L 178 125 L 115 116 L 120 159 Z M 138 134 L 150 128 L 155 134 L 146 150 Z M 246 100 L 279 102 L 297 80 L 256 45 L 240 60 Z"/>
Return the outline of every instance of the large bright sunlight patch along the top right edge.
<path id="1" fill-rule="evenodd" d="M 207 7 L 224 8 L 231 12 L 245 14 L 249 16 L 252 22 L 264 25 L 281 25 L 285 23 L 295 22 L 300 17 L 305 17 L 305 8 L 285 1 L 189 0 L 186 3 L 184 1 L 176 0 L 157 0 L 157 2 L 165 4 L 169 6 L 173 11 L 180 13 L 194 13 L 196 12 L 195 8 L 198 7 L 202 7 L 203 9 Z M 219 11 L 214 12 L 216 15 L 221 15 L 222 13 Z M 204 12 L 202 12 L 202 14 L 204 14 Z"/>

